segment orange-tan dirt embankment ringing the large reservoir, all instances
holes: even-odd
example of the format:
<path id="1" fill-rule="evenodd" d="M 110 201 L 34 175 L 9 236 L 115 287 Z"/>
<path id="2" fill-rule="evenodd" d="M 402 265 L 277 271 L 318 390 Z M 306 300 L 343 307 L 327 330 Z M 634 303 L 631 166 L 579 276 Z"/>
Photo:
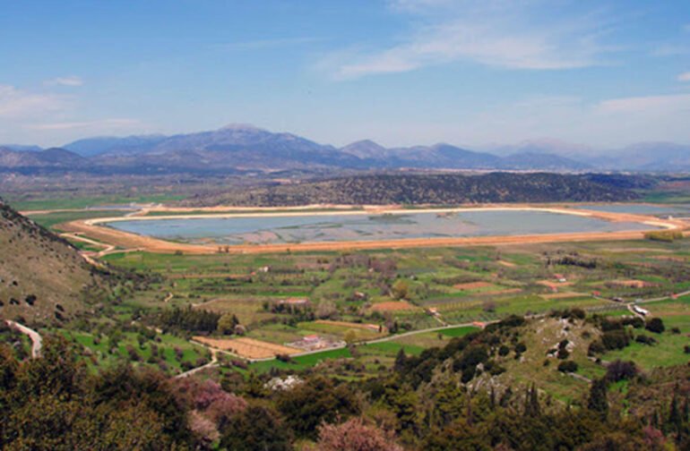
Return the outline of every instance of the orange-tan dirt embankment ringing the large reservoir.
<path id="1" fill-rule="evenodd" d="M 331 206 L 332 207 L 332 206 Z M 233 215 L 229 213 L 220 215 L 178 215 L 176 219 L 192 217 L 262 217 L 262 216 L 293 216 L 299 214 L 309 215 L 328 215 L 328 212 L 313 212 L 310 208 L 302 208 L 299 211 L 276 213 L 270 210 L 265 213 L 250 213 Z M 473 208 L 429 208 L 425 210 L 402 210 L 397 206 L 384 209 L 378 207 L 377 213 L 410 213 L 410 212 L 455 212 L 455 211 L 479 211 L 479 210 L 517 210 L 517 211 L 548 211 L 582 217 L 593 217 L 604 219 L 611 222 L 634 222 L 649 225 L 647 230 L 654 230 L 658 227 L 685 230 L 687 223 L 676 219 L 660 219 L 658 217 L 635 215 L 628 213 L 611 213 L 598 210 L 562 208 L 553 206 L 538 205 L 491 205 L 486 207 Z M 197 208 L 198 210 L 198 208 Z M 173 208 L 168 208 L 173 211 Z M 341 212 L 339 214 L 345 214 Z M 347 214 L 362 215 L 371 214 L 365 208 L 359 211 L 349 211 Z M 166 217 L 137 217 L 137 220 L 160 220 Z M 231 254 L 237 253 L 270 253 L 285 251 L 346 251 L 346 250 L 372 250 L 372 249 L 403 249 L 420 247 L 440 247 L 440 246 L 481 246 L 481 245 L 505 245 L 505 244 L 526 244 L 526 243 L 558 243 L 558 242 L 582 242 L 582 241 L 615 241 L 615 240 L 637 240 L 642 239 L 645 231 L 621 231 L 621 232 L 592 232 L 592 233 L 568 233 L 568 234 L 521 234 L 521 235 L 496 235 L 496 236 L 464 236 L 464 237 L 438 237 L 438 238 L 410 238 L 380 241 L 349 241 L 349 242 L 313 242 L 313 243 L 272 243 L 272 244 L 239 244 L 233 246 L 219 246 L 217 244 L 188 244 L 172 243 L 151 236 L 131 234 L 99 225 L 111 221 L 121 221 L 134 219 L 134 217 L 122 218 L 97 218 L 82 219 L 61 225 L 61 228 L 73 233 L 80 233 L 96 238 L 101 242 L 110 243 L 123 248 L 138 248 L 151 252 L 174 253 L 184 252 L 188 254 L 211 254 L 218 253 L 219 249 Z"/>

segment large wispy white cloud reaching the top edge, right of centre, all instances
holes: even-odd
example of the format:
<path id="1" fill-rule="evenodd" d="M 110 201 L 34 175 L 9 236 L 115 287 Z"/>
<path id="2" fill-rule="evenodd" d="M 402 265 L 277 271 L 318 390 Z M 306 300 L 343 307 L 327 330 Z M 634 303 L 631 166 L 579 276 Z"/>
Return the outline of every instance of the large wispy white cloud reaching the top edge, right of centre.
<path id="1" fill-rule="evenodd" d="M 602 64 L 601 55 L 612 47 L 599 43 L 608 30 L 595 13 L 547 21 L 539 8 L 535 1 L 398 0 L 393 11 L 418 19 L 411 36 L 382 50 L 329 61 L 332 76 L 352 79 L 457 61 L 530 70 Z"/>

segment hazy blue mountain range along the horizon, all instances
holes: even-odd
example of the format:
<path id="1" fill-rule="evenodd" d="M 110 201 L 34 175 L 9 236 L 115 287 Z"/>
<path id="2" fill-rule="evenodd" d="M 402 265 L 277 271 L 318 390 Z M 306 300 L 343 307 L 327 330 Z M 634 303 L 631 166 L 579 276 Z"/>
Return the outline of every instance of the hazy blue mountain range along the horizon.
<path id="1" fill-rule="evenodd" d="M 0 145 L 0 170 L 26 173 L 232 173 L 322 168 L 683 171 L 690 170 L 690 146 L 639 143 L 611 150 L 605 156 L 553 140 L 496 146 L 490 152 L 444 143 L 386 149 L 372 140 L 338 149 L 291 133 L 269 132 L 245 124 L 171 136 L 87 138 L 53 149 Z"/>

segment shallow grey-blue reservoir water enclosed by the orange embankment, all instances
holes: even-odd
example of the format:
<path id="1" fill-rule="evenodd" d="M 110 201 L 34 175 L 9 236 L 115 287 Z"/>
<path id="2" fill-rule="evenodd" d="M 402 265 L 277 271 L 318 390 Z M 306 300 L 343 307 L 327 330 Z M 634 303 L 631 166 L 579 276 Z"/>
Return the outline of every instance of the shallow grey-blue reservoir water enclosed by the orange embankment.
<path id="1" fill-rule="evenodd" d="M 654 228 L 634 222 L 542 210 L 491 209 L 385 214 L 325 213 L 120 220 L 110 227 L 184 243 L 266 244 L 376 241 L 516 234 L 618 232 Z"/>

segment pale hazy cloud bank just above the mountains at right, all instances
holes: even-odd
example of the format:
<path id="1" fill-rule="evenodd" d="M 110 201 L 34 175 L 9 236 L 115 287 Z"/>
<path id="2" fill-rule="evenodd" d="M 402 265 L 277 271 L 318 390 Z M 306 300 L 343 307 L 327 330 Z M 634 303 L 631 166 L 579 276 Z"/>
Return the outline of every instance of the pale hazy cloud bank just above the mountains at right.
<path id="1" fill-rule="evenodd" d="M 609 98 L 535 97 L 478 108 L 461 117 L 353 124 L 359 135 L 394 145 L 444 140 L 478 148 L 548 136 L 614 149 L 640 141 L 690 143 L 690 95 Z M 366 133 L 365 133 L 366 132 Z M 596 150 L 594 151 L 596 152 Z"/>

